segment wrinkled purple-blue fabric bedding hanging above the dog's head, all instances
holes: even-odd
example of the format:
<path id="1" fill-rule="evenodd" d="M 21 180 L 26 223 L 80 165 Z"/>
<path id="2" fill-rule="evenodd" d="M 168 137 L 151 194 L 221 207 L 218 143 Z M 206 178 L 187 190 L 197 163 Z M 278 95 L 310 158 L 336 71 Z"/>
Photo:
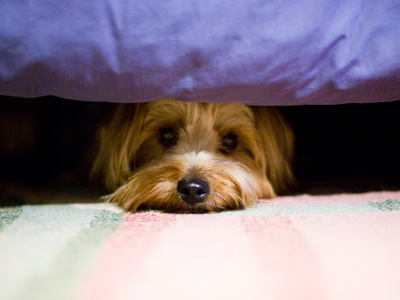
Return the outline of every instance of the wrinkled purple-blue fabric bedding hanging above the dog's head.
<path id="1" fill-rule="evenodd" d="M 400 1 L 2 1 L 0 94 L 398 100 Z"/>

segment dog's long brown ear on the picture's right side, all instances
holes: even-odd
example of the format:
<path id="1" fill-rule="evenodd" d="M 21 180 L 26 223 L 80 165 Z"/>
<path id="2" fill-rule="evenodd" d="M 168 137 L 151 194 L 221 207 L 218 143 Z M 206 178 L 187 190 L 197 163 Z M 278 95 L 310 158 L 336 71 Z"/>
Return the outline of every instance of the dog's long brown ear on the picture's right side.
<path id="1" fill-rule="evenodd" d="M 262 167 L 276 192 L 287 190 L 293 183 L 291 169 L 294 136 L 289 124 L 273 107 L 252 107 L 261 153 L 256 163 Z"/>

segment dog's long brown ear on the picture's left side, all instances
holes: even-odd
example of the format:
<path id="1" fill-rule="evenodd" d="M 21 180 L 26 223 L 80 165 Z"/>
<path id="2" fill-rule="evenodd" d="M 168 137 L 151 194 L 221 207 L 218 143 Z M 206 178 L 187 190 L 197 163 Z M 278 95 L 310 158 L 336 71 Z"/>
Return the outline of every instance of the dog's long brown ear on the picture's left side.
<path id="1" fill-rule="evenodd" d="M 99 132 L 100 149 L 92 174 L 102 175 L 107 188 L 113 190 L 132 174 L 131 163 L 142 144 L 143 122 L 147 104 L 119 104 L 110 121 Z"/>

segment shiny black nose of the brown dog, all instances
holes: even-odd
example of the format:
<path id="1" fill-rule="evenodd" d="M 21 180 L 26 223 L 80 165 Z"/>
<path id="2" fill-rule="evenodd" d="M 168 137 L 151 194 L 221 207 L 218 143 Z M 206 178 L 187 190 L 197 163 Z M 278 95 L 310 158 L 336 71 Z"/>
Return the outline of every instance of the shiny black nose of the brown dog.
<path id="1" fill-rule="evenodd" d="M 178 193 L 189 204 L 203 202 L 210 192 L 208 182 L 195 177 L 184 177 L 178 182 Z"/>

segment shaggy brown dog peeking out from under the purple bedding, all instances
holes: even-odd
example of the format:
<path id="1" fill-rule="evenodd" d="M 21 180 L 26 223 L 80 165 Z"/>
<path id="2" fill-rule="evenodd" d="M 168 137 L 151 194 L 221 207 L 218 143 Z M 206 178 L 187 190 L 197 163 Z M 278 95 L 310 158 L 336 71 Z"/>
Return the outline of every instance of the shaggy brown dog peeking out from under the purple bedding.
<path id="1" fill-rule="evenodd" d="M 99 140 L 93 172 L 130 212 L 244 209 L 293 182 L 293 133 L 272 107 L 119 104 Z"/>

